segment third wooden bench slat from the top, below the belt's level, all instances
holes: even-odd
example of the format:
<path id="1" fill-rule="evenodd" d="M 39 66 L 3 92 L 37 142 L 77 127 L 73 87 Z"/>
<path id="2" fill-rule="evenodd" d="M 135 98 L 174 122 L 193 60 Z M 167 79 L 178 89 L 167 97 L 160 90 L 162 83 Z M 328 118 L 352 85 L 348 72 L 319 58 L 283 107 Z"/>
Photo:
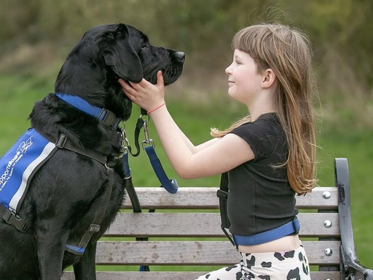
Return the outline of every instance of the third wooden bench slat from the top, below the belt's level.
<path id="1" fill-rule="evenodd" d="M 304 241 L 310 265 L 339 265 L 339 241 Z M 332 249 L 326 256 L 324 250 Z M 97 264 L 230 265 L 239 254 L 229 241 L 100 241 Z"/>

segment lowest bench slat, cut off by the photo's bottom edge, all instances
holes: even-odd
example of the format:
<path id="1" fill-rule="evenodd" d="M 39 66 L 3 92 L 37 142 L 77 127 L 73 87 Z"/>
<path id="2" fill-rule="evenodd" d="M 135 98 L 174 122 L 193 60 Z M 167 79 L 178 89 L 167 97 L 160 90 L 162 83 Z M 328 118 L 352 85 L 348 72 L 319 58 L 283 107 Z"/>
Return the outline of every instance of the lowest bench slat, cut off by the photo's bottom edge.
<path id="1" fill-rule="evenodd" d="M 204 272 L 100 272 L 96 273 L 97 280 L 192 280 Z M 62 280 L 74 280 L 72 272 L 66 272 Z M 339 280 L 339 272 L 311 272 L 312 280 Z"/>

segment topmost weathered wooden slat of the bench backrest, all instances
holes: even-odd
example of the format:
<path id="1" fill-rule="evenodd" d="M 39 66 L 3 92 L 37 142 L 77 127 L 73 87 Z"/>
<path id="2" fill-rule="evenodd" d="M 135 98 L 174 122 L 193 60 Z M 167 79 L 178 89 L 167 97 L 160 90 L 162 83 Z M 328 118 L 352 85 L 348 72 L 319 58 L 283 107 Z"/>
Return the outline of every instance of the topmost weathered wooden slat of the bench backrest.
<path id="1" fill-rule="evenodd" d="M 142 208 L 145 209 L 219 209 L 216 187 L 181 187 L 175 194 L 170 194 L 160 187 L 135 188 Z M 328 191 L 330 198 L 323 198 Z M 336 187 L 316 187 L 306 196 L 295 196 L 299 209 L 336 209 L 338 206 L 338 190 Z M 132 209 L 128 195 L 125 209 Z"/>

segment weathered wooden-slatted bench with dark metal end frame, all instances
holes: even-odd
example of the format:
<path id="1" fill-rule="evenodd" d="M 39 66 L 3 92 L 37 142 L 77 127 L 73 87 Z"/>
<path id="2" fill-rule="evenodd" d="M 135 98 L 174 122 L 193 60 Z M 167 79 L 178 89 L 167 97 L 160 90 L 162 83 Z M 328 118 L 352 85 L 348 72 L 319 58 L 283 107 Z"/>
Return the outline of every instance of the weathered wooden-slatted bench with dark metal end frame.
<path id="1" fill-rule="evenodd" d="M 362 267 L 355 254 L 347 159 L 335 159 L 335 170 L 335 187 L 316 187 L 306 196 L 296 196 L 297 208 L 304 209 L 298 215 L 300 237 L 310 265 L 317 266 L 317 271 L 311 271 L 311 279 L 373 280 L 373 271 Z M 238 252 L 220 228 L 217 188 L 181 187 L 175 195 L 155 187 L 138 187 L 136 191 L 143 211 L 157 209 L 156 212 L 120 212 L 105 236 L 151 237 L 151 240 L 99 241 L 96 262 L 99 265 L 173 265 L 176 272 L 97 272 L 98 280 L 192 280 L 204 273 L 179 272 L 181 266 L 227 266 L 239 261 Z M 128 197 L 123 208 L 131 209 Z M 185 237 L 189 240 L 184 241 Z M 63 279 L 74 277 L 67 272 Z"/>

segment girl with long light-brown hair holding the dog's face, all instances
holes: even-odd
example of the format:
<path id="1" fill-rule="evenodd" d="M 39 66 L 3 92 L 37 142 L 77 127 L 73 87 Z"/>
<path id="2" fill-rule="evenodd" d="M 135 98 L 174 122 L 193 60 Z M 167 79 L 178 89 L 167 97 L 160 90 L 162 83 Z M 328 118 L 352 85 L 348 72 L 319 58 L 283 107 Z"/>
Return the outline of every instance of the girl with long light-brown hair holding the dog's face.
<path id="1" fill-rule="evenodd" d="M 311 55 L 305 35 L 280 24 L 241 29 L 225 69 L 228 94 L 247 116 L 194 146 L 173 121 L 157 85 L 142 80 L 124 93 L 149 112 L 177 174 L 199 178 L 228 171 L 229 231 L 241 261 L 198 278 L 209 280 L 310 279 L 298 238 L 295 193 L 315 186 L 316 153 L 311 109 Z M 177 133 L 176 133 L 177 132 Z"/>

